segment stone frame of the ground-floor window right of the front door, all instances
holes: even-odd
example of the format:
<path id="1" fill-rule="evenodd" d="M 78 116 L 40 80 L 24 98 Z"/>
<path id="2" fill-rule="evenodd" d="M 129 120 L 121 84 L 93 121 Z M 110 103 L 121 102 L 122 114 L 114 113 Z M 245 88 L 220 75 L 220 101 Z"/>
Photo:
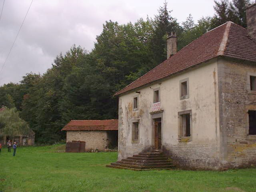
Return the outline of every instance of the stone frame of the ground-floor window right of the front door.
<path id="1" fill-rule="evenodd" d="M 190 115 L 190 136 L 183 136 L 183 117 L 184 115 Z M 178 112 L 178 140 L 179 141 L 192 141 L 192 110 Z"/>

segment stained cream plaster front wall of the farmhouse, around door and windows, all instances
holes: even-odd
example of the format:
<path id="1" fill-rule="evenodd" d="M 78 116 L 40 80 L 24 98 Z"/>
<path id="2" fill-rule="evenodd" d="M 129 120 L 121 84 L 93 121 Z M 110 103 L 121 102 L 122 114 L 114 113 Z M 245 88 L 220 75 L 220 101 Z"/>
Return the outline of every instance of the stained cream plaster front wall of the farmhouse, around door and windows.
<path id="1" fill-rule="evenodd" d="M 219 118 L 216 59 L 166 80 L 126 93 L 119 98 L 118 159 L 149 150 L 154 144 L 151 106 L 153 90 L 160 88 L 162 144 L 176 165 L 190 168 L 218 168 Z M 189 79 L 189 98 L 180 100 L 180 80 Z M 140 94 L 135 93 L 140 91 Z M 133 97 L 138 95 L 138 111 Z M 178 112 L 192 110 L 192 141 L 178 140 Z M 138 119 L 139 143 L 132 143 L 132 121 Z"/>

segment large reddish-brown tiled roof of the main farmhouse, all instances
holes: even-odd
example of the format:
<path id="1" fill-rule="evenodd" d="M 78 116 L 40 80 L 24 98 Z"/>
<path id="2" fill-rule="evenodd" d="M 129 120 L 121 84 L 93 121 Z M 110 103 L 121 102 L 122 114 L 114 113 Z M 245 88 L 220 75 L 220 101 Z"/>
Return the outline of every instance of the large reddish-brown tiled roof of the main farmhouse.
<path id="1" fill-rule="evenodd" d="M 233 22 L 226 22 L 194 40 L 176 54 L 144 74 L 115 95 L 181 72 L 189 67 L 218 56 L 256 62 L 256 43 L 247 30 Z"/>

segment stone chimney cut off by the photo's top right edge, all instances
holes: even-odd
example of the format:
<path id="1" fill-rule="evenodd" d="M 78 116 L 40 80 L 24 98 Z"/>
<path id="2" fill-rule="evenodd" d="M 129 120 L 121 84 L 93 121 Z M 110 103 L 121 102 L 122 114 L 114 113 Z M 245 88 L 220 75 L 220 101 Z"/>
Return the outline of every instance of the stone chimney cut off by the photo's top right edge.
<path id="1" fill-rule="evenodd" d="M 256 42 L 256 3 L 246 8 L 246 21 L 248 35 Z"/>

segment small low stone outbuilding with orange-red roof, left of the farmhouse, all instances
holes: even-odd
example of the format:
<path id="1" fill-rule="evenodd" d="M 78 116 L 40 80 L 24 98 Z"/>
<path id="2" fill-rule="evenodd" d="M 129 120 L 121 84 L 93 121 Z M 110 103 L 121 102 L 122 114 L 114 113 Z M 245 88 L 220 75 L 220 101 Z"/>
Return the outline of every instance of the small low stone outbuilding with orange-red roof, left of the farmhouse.
<path id="1" fill-rule="evenodd" d="M 71 120 L 62 131 L 66 131 L 66 142 L 85 142 L 85 150 L 105 151 L 117 148 L 118 119 Z"/>

